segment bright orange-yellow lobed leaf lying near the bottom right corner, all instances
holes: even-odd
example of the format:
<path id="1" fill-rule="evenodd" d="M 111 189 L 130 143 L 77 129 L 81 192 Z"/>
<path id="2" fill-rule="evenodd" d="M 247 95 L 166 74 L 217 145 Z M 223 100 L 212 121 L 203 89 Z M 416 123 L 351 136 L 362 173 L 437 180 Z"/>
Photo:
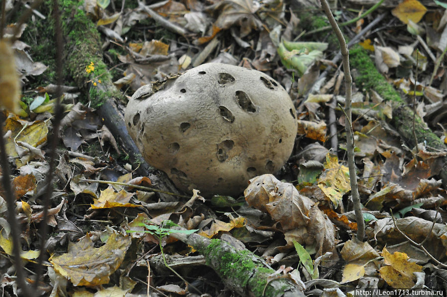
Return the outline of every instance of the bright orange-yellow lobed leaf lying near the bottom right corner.
<path id="1" fill-rule="evenodd" d="M 385 265 L 380 268 L 380 277 L 393 288 L 412 288 L 416 280 L 414 272 L 421 272 L 422 266 L 408 261 L 405 253 L 394 252 L 390 254 L 386 247 L 383 248 L 381 256 Z"/>

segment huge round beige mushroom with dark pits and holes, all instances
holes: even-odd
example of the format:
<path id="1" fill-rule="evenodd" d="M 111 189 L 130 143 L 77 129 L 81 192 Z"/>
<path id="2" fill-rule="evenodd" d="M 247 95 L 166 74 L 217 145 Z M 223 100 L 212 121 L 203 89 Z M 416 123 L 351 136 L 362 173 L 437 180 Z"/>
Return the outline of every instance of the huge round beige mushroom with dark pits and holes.
<path id="1" fill-rule="evenodd" d="M 219 63 L 141 87 L 125 121 L 150 165 L 202 195 L 237 195 L 253 177 L 278 171 L 297 130 L 292 101 L 275 80 Z"/>

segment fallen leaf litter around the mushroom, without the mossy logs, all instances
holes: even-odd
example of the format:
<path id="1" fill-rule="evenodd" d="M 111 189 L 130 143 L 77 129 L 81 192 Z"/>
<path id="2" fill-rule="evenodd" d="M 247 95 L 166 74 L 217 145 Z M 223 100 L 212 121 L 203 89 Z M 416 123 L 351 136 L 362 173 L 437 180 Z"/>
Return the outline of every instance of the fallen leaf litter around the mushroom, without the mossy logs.
<path id="1" fill-rule="evenodd" d="M 445 288 L 447 194 L 440 174 L 445 170 L 446 149 L 433 150 L 422 139 L 417 147 L 408 147 L 388 123 L 395 107 L 374 90 L 356 90 L 360 99 L 353 104 L 355 155 L 367 235 L 366 242 L 359 242 L 343 145 L 345 115 L 336 107 L 336 122 L 329 122 L 327 116 L 331 100 L 344 102 L 344 88 L 336 84 L 336 78 L 340 81 L 343 75 L 330 74 L 333 79 L 329 78 L 324 88 L 314 88 L 321 70 L 331 65 L 324 59 L 331 57 L 337 45 L 318 34 L 312 38 L 298 36 L 309 30 L 306 26 L 311 22 L 300 13 L 305 7 L 299 6 L 305 5 L 301 2 L 168 0 L 121 11 L 109 1 L 84 3 L 83 9 L 103 33 L 109 68 L 117 69 L 113 73 L 115 85 L 126 96 L 144 84 L 209 61 L 264 71 L 289 92 L 300 124 L 292 156 L 276 174 L 281 181 L 272 175 L 255 177 L 240 197 L 216 196 L 205 202 L 197 193 L 187 203 L 160 200 L 150 190 L 157 186 L 150 177 L 135 177 L 136 164 L 129 163 L 125 148 L 102 125 L 96 111 L 78 102 L 76 88 L 64 88 L 67 113 L 61 130 L 54 131 L 51 119 L 56 95 L 51 84 L 55 82 L 36 85 L 36 79 L 43 78 L 49 68 L 34 62 L 33 51 L 29 51 L 34 45 L 29 46 L 29 39 L 22 35 L 33 24 L 21 28 L 17 35 L 20 40 L 12 45 L 1 40 L 1 57 L 13 53 L 16 60 L 15 68 L 12 59 L 0 60 L 1 89 L 10 96 L 2 98 L 0 105 L 15 112 L 2 111 L 3 133 L 13 169 L 24 259 L 35 259 L 40 248 L 35 223 L 43 217 L 40 195 L 44 177 L 49 174 L 47 142 L 54 133 L 63 136 L 60 147 L 64 149 L 56 158 L 57 180 L 48 210 L 52 231 L 46 259 L 52 267 L 47 268 L 44 278 L 51 281 L 46 287 L 51 296 L 132 296 L 131 292 L 145 294 L 148 286 L 166 294 L 192 294 L 182 280 L 166 273 L 163 264 L 150 261 L 162 252 L 159 240 L 164 252 L 183 261 L 192 259 L 195 252 L 171 236 L 158 239 L 144 233 L 141 224 L 149 220 L 155 225 L 172 220 L 187 229 L 199 229 L 199 234 L 209 238 L 231 235 L 229 240 L 234 244 L 249 247 L 276 269 L 271 279 L 287 275 L 301 282 L 309 294 L 313 286 L 320 293 L 329 293 L 334 284 Z M 439 3 L 426 7 L 421 2 L 405 0 L 382 8 L 391 11 L 388 21 L 395 26 L 364 36 L 360 45 L 409 102 L 416 97 L 418 115 L 447 143 L 443 55 L 447 10 Z M 341 12 L 343 8 L 337 9 Z M 151 10 L 160 17 L 156 22 L 148 13 Z M 343 13 L 348 18 L 357 16 L 348 10 Z M 372 12 L 355 30 L 376 16 L 377 12 Z M 181 34 L 178 27 L 184 28 Z M 14 24 L 8 24 L 4 36 L 12 36 L 13 28 Z M 177 33 L 166 33 L 173 30 Z M 300 37 L 295 43 L 293 39 Z M 16 72 L 11 68 L 20 76 L 12 75 Z M 317 91 L 307 96 L 311 88 Z M 329 128 L 333 124 L 341 141 L 329 152 L 329 140 L 334 136 Z M 88 179 L 128 186 L 85 182 Z M 149 188 L 135 189 L 132 185 Z M 0 247 L 11 255 L 4 195 L 0 189 Z M 126 235 L 125 230 L 136 232 Z M 11 265 L 6 261 L 2 268 L 6 271 Z M 35 269 L 31 262 L 26 265 Z M 183 277 L 196 281 L 194 286 L 203 292 L 216 295 L 227 290 L 209 269 L 197 272 L 192 264 L 182 267 Z M 148 274 L 150 284 L 145 283 Z M 431 274 L 438 280 L 430 281 Z M 3 274 L 3 287 L 18 296 L 14 282 L 13 276 Z M 344 289 L 337 293 L 348 294 Z"/>

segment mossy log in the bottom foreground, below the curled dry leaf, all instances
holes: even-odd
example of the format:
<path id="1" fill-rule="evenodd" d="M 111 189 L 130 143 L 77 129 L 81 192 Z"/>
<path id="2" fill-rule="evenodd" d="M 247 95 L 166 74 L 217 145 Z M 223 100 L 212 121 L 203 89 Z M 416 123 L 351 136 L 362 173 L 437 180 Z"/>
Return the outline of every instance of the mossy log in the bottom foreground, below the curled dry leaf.
<path id="1" fill-rule="evenodd" d="M 291 279 L 269 276 L 275 271 L 265 261 L 245 248 L 235 248 L 220 239 L 198 234 L 173 233 L 172 236 L 192 246 L 205 257 L 224 284 L 241 296 L 304 297 L 302 289 Z"/>

